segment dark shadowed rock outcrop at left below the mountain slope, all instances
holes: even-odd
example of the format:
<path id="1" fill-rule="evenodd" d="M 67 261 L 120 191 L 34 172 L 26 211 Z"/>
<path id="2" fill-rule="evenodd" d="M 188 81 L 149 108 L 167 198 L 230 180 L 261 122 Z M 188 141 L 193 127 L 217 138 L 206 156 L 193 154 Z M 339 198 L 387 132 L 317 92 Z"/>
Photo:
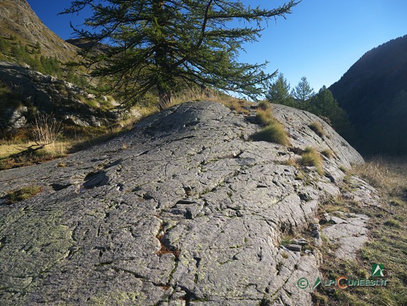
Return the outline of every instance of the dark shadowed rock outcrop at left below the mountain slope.
<path id="1" fill-rule="evenodd" d="M 0 128 L 13 130 L 21 128 L 33 118 L 30 109 L 42 113 L 52 113 L 55 118 L 71 125 L 101 126 L 117 119 L 117 114 L 84 103 L 91 96 L 67 81 L 35 72 L 10 62 L 0 62 L 0 81 L 11 91 L 16 92 L 21 102 L 8 105 L 0 101 L 3 108 L 0 114 Z M 96 101 L 97 103 L 97 101 Z"/>

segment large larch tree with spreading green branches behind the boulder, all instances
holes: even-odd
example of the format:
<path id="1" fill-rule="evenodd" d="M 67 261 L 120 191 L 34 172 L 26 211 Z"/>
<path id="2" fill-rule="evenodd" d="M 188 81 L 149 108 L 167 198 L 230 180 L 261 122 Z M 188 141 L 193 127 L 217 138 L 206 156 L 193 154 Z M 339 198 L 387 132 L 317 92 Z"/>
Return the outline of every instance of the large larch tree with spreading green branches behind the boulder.
<path id="1" fill-rule="evenodd" d="M 82 64 L 107 79 L 107 91 L 127 101 L 155 91 L 162 109 L 183 86 L 264 94 L 274 74 L 263 71 L 266 63 L 238 62 L 239 51 L 299 1 L 265 9 L 226 0 L 77 0 L 64 13 L 91 8 L 84 28 L 74 30 L 90 42 Z"/>

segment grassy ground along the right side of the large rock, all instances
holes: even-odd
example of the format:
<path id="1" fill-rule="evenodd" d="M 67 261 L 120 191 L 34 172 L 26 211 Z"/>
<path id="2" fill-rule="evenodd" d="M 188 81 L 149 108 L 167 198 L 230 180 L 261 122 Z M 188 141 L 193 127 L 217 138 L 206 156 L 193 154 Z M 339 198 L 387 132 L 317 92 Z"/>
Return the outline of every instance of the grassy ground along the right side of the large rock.
<path id="1" fill-rule="evenodd" d="M 323 286 L 314 291 L 316 305 L 407 305 L 407 161 L 406 159 L 374 158 L 353 173 L 362 176 L 377 188 L 382 203 L 377 206 L 357 205 L 352 200 L 326 203 L 321 212 L 334 206 L 370 216 L 369 241 L 360 250 L 356 261 L 343 261 L 331 256 L 323 246 L 324 278 L 347 276 L 370 278 L 372 263 L 383 263 L 387 285 L 383 287 L 350 287 L 329 292 Z M 348 186 L 352 188 L 352 186 Z"/>

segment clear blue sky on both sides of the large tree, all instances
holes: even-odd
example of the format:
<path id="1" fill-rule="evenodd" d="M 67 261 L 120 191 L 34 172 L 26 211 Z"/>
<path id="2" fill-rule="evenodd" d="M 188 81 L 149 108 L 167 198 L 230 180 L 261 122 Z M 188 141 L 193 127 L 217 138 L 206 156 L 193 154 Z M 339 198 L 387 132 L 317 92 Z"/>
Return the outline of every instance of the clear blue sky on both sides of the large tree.
<path id="1" fill-rule="evenodd" d="M 69 21 L 81 15 L 57 16 L 69 0 L 28 0 L 43 23 L 63 39 L 71 37 Z M 243 0 L 244 4 L 276 7 L 282 0 Z M 292 87 L 305 76 L 316 89 L 330 86 L 365 52 L 407 34 L 406 0 L 303 0 L 287 19 L 270 21 L 258 42 L 245 45 L 241 62 L 270 62 Z"/>

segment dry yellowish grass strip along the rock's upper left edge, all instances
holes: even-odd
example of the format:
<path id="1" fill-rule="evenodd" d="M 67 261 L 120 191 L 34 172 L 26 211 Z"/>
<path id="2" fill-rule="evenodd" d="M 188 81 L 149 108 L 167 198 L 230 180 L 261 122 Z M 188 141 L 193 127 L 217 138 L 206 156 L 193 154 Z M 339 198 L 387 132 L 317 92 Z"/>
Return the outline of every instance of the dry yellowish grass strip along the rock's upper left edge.
<path id="1" fill-rule="evenodd" d="M 137 111 L 141 116 L 127 115 L 112 126 L 64 125 L 63 130 L 53 120 L 45 118 L 43 124 L 35 125 L 36 128 L 21 129 L 13 137 L 6 135 L 8 140 L 0 140 L 0 170 L 47 162 L 98 145 L 131 130 L 139 120 L 158 110 L 137 107 Z"/>

